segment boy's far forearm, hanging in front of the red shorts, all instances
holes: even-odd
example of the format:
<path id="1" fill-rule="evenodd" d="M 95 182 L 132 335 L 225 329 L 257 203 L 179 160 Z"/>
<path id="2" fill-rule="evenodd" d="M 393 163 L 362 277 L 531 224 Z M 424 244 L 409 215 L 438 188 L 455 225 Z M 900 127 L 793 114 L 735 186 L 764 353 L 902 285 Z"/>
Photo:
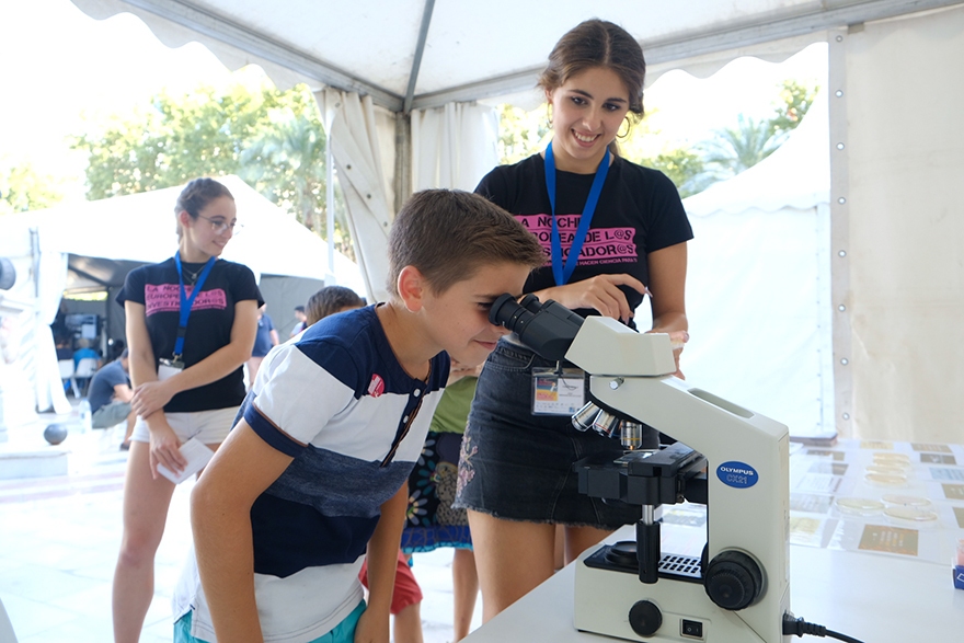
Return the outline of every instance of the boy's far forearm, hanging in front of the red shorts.
<path id="1" fill-rule="evenodd" d="M 408 507 L 406 481 L 381 505 L 381 517 L 368 541 L 368 608 L 358 620 L 355 643 L 388 643 L 389 610 Z"/>

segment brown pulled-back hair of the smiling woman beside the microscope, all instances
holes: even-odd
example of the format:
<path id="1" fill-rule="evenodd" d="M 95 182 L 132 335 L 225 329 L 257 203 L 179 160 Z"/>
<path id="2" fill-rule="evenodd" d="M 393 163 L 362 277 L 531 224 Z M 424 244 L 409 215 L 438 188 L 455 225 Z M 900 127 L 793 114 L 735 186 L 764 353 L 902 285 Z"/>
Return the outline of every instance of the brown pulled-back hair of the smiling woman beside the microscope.
<path id="1" fill-rule="evenodd" d="M 605 20 L 581 22 L 562 36 L 549 54 L 538 85 L 552 91 L 594 67 L 609 69 L 622 80 L 629 91 L 630 114 L 634 120 L 642 118 L 646 80 L 643 48 L 624 28 Z"/>

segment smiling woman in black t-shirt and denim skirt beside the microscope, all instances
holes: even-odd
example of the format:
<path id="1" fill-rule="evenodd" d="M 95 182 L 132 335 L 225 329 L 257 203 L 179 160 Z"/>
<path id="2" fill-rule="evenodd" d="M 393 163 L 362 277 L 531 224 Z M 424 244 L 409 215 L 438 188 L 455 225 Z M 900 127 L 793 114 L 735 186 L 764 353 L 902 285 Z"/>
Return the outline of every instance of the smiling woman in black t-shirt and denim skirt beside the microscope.
<path id="1" fill-rule="evenodd" d="M 612 153 L 627 118 L 643 113 L 644 76 L 630 34 L 599 20 L 577 25 L 555 45 L 539 81 L 552 108 L 552 142 L 542 154 L 496 168 L 477 192 L 515 215 L 547 251 L 526 292 L 633 328 L 633 310 L 649 294 L 652 331 L 674 334 L 681 346 L 691 228 L 665 175 Z M 579 494 L 572 471 L 586 456 L 619 457 L 618 438 L 578 433 L 567 414 L 532 414 L 532 371 L 555 366 L 508 336 L 479 378 L 456 507 L 468 509 L 484 620 L 552 575 L 556 526 L 570 562 L 640 518 L 639 507 Z"/>

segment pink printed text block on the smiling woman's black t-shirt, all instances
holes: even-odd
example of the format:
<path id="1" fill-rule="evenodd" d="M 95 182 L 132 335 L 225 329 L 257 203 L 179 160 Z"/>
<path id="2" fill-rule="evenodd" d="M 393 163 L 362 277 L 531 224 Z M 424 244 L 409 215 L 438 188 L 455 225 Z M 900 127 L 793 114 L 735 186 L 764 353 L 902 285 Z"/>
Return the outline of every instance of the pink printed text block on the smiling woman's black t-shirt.
<path id="1" fill-rule="evenodd" d="M 562 257 L 569 256 L 573 238 L 579 227 L 582 215 L 559 215 L 559 240 L 562 242 Z M 546 265 L 552 260 L 552 217 L 550 215 L 516 215 L 516 219 L 526 230 L 536 236 L 542 250 L 546 251 Z M 633 242 L 635 230 L 632 228 L 590 228 L 579 252 L 578 265 L 598 265 L 609 263 L 635 263 L 639 260 L 636 244 Z"/>

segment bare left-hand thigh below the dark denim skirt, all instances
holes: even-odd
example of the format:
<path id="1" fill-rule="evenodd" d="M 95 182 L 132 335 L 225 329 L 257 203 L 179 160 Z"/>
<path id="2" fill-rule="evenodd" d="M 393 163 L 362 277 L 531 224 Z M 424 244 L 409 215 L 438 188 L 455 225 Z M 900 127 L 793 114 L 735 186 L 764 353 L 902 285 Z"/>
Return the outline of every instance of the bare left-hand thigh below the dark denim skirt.
<path id="1" fill-rule="evenodd" d="M 482 621 L 487 622 L 552 576 L 555 526 L 470 509 L 469 527 L 482 588 Z"/>

